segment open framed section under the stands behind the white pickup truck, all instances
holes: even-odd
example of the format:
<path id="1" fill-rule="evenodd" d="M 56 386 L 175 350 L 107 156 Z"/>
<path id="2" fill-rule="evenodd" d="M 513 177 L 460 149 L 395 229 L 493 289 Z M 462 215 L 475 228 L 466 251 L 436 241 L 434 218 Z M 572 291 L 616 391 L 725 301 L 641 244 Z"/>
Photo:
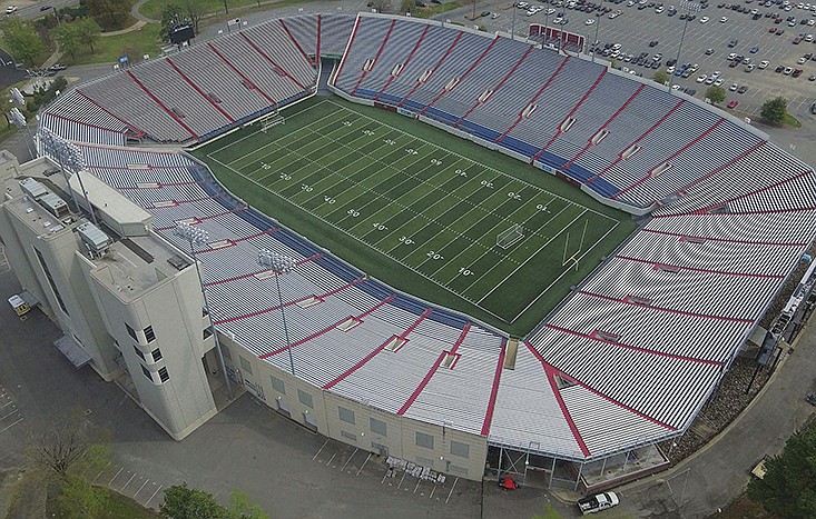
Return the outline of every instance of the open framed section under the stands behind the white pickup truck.
<path id="1" fill-rule="evenodd" d="M 668 469 L 669 459 L 656 443 L 593 461 L 576 461 L 528 450 L 490 446 L 485 476 L 512 477 L 522 486 L 584 495 L 618 487 Z"/>

